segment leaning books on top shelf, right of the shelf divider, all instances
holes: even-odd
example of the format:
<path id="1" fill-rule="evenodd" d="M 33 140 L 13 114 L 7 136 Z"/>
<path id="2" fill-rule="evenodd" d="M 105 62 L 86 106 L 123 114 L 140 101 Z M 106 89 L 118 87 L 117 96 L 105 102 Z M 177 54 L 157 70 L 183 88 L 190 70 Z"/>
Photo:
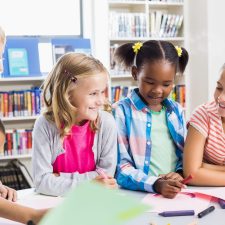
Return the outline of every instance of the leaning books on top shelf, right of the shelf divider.
<path id="1" fill-rule="evenodd" d="M 151 37 L 177 37 L 183 23 L 183 15 L 160 10 L 151 12 L 149 19 Z"/>

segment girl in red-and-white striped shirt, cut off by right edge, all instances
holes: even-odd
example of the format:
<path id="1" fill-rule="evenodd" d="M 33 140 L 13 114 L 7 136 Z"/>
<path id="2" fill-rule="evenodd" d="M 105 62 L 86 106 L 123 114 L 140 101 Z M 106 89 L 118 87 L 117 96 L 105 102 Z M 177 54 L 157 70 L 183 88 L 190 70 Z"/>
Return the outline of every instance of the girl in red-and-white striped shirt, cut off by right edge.
<path id="1" fill-rule="evenodd" d="M 188 123 L 184 148 L 184 175 L 190 184 L 225 186 L 225 64 L 214 100 L 200 105 Z"/>

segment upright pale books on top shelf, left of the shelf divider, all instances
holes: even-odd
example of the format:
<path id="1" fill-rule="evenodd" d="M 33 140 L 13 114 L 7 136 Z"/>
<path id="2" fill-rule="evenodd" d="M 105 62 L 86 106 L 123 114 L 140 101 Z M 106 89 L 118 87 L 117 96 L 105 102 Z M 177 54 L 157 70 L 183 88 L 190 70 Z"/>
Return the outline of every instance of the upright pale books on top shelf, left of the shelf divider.
<path id="1" fill-rule="evenodd" d="M 109 36 L 111 38 L 122 37 L 146 37 L 145 13 L 110 12 Z"/>

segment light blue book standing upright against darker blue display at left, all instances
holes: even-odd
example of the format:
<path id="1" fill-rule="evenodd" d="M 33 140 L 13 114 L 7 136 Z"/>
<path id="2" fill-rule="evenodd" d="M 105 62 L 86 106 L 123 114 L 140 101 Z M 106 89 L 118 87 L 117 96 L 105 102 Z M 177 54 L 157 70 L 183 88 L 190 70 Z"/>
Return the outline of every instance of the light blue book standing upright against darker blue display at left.
<path id="1" fill-rule="evenodd" d="M 25 48 L 8 48 L 8 59 L 10 76 L 27 76 L 29 74 Z"/>

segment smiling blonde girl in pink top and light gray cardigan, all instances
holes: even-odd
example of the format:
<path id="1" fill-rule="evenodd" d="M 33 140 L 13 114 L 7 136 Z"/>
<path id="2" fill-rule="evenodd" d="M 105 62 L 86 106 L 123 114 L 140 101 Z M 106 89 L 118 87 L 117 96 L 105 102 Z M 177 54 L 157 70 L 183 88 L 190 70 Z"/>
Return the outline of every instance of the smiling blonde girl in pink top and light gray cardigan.
<path id="1" fill-rule="evenodd" d="M 33 178 L 37 192 L 64 195 L 86 180 L 111 188 L 116 161 L 116 126 L 104 111 L 108 72 L 97 59 L 62 56 L 44 83 L 45 111 L 33 133 Z M 96 169 L 103 169 L 106 178 Z"/>

